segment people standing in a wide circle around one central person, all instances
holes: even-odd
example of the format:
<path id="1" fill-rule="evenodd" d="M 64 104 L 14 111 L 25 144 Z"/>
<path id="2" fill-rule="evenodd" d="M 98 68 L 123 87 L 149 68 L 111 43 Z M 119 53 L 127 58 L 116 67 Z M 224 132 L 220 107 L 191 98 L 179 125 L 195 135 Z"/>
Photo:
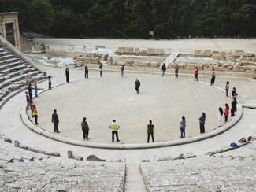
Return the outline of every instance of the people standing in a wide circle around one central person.
<path id="1" fill-rule="evenodd" d="M 166 71 L 166 65 L 165 63 L 162 65 L 162 76 L 165 76 L 165 71 Z M 175 76 L 176 78 L 178 78 L 178 70 L 179 67 L 178 65 L 175 66 Z M 103 65 L 102 63 L 99 65 L 99 72 L 100 72 L 100 76 L 102 77 L 102 71 L 103 71 Z M 87 65 L 84 66 L 84 74 L 85 74 L 85 79 L 88 79 L 88 67 Z M 66 76 L 66 82 L 69 83 L 69 68 L 65 69 L 65 76 Z M 121 77 L 124 76 L 124 65 L 121 66 Z M 198 81 L 198 68 L 195 67 L 195 79 L 194 81 Z M 214 86 L 214 82 L 215 82 L 215 74 L 213 72 L 212 74 L 212 78 L 210 80 L 210 86 Z M 51 76 L 48 76 L 48 88 L 51 89 Z M 140 82 L 139 79 L 135 79 L 135 90 L 137 92 L 137 94 L 139 94 L 139 87 L 140 87 Z M 35 88 L 35 98 L 38 98 L 38 88 L 37 88 L 37 82 L 34 82 L 34 88 Z M 226 82 L 226 86 L 225 86 L 225 91 L 226 91 L 226 96 L 228 97 L 228 90 L 229 90 L 229 82 Z M 35 117 L 35 124 L 38 124 L 38 111 L 36 109 L 35 104 L 33 104 L 33 100 L 32 100 L 32 84 L 29 83 L 28 85 L 28 91 L 25 91 L 26 94 L 26 101 L 27 101 L 27 108 L 31 109 L 32 111 L 32 117 Z M 232 90 L 232 108 L 231 108 L 231 116 L 235 116 L 235 111 L 236 111 L 236 98 L 237 98 L 237 93 L 236 93 L 236 87 L 233 87 Z M 222 116 L 224 114 L 224 123 L 228 122 L 228 114 L 229 114 L 229 105 L 228 103 L 225 104 L 225 108 L 224 111 L 221 107 L 219 107 L 219 111 L 218 111 L 218 127 L 221 127 L 221 122 L 222 122 Z M 180 121 L 180 138 L 185 138 L 185 128 L 186 128 L 186 119 L 184 116 L 182 116 L 181 118 L 182 120 Z M 206 122 L 206 113 L 202 112 L 202 116 L 199 117 L 199 127 L 200 127 L 200 133 L 205 133 L 205 122 Z M 54 132 L 56 133 L 60 133 L 60 131 L 58 131 L 58 123 L 59 123 L 59 119 L 58 119 L 58 114 L 57 114 L 57 110 L 54 109 L 54 113 L 52 114 L 52 123 L 54 123 Z M 89 139 L 88 135 L 89 135 L 89 126 L 88 123 L 86 121 L 86 117 L 83 117 L 83 120 L 81 122 L 81 128 L 83 131 L 83 139 Z M 118 129 L 120 128 L 120 126 L 117 124 L 116 120 L 113 120 L 113 122 L 111 124 L 109 124 L 109 128 L 112 129 L 112 142 L 114 142 L 114 135 L 116 135 L 116 140 L 117 142 L 119 142 L 119 138 L 118 138 Z M 152 124 L 152 120 L 149 120 L 149 124 L 147 125 L 147 142 L 150 141 L 150 136 L 152 138 L 152 142 L 154 142 L 154 124 Z"/>

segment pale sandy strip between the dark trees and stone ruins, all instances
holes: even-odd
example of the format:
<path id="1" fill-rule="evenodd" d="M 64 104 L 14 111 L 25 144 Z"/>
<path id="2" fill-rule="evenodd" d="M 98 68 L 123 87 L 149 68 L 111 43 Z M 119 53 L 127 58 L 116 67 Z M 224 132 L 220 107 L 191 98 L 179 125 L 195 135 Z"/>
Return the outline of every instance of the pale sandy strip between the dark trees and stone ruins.
<path id="1" fill-rule="evenodd" d="M 35 42 L 44 42 L 50 50 L 68 49 L 68 45 L 75 45 L 76 50 L 95 50 L 95 45 L 105 45 L 106 49 L 117 50 L 119 46 L 139 48 L 161 48 L 168 53 L 169 49 L 184 51 L 202 50 L 256 50 L 256 40 L 253 39 L 175 39 L 175 40 L 146 40 L 146 39 L 34 39 Z"/>

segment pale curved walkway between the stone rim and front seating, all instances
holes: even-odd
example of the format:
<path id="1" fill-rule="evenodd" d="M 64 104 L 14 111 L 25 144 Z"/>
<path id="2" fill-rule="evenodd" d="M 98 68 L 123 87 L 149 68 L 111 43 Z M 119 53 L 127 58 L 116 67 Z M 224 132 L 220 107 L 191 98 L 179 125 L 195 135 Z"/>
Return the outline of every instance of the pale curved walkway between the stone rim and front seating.
<path id="1" fill-rule="evenodd" d="M 50 68 L 49 72 L 52 74 L 54 74 L 54 72 L 56 73 L 54 74 L 54 83 L 65 81 L 65 77 L 60 73 L 58 68 Z M 42 83 L 42 87 L 43 86 L 46 87 L 46 82 Z M 239 138 L 256 135 L 256 109 L 244 109 L 243 117 L 235 127 L 232 127 L 232 129 L 217 137 L 201 142 L 147 150 L 101 150 L 71 146 L 35 134 L 28 130 L 20 120 L 20 109 L 23 109 L 24 106 L 24 93 L 20 93 L 14 98 L 11 98 L 9 102 L 2 107 L 0 110 L 0 131 L 5 133 L 7 138 L 18 140 L 23 146 L 31 146 L 49 152 L 58 152 L 61 153 L 61 157 L 67 157 L 67 150 L 72 150 L 75 155 L 81 157 L 94 154 L 106 160 L 125 159 L 127 162 L 138 162 L 142 159 L 156 161 L 158 157 L 161 156 L 176 157 L 180 153 L 185 154 L 187 152 L 193 152 L 197 156 L 203 156 L 206 152 L 219 150 L 221 146 L 236 142 Z"/>

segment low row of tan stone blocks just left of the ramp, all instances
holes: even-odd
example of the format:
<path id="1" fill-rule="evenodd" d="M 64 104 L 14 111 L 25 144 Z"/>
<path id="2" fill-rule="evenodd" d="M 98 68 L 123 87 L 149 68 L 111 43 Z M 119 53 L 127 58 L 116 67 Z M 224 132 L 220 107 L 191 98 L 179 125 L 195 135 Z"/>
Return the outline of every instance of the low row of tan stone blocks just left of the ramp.
<path id="1" fill-rule="evenodd" d="M 142 49 L 139 47 L 118 47 L 116 54 L 132 54 L 132 55 L 145 55 L 145 56 L 164 56 L 164 49 L 147 48 Z"/>

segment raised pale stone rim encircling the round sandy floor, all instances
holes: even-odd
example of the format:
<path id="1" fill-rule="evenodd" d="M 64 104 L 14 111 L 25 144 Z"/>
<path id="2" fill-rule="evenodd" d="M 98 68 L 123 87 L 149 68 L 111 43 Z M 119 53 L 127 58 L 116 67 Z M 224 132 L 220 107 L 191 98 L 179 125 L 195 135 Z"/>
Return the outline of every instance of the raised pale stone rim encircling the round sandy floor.
<path id="1" fill-rule="evenodd" d="M 74 81 L 79 81 L 83 79 L 75 79 Z M 198 83 L 207 84 L 204 82 L 198 81 Z M 65 83 L 60 83 L 54 87 L 61 86 Z M 214 86 L 216 87 L 216 86 Z M 217 89 L 220 89 L 225 92 L 224 89 L 221 87 L 216 87 Z M 42 94 L 48 89 L 45 89 L 41 91 L 39 94 Z M 229 121 L 227 124 L 224 124 L 222 127 L 210 131 L 208 133 L 205 133 L 203 135 L 197 135 L 191 138 L 184 138 L 179 140 L 172 140 L 172 141 L 166 141 L 166 142 L 152 142 L 152 143 L 133 143 L 133 144 L 110 144 L 110 143 L 100 143 L 100 142 L 84 142 L 80 140 L 76 140 L 73 138 L 66 138 L 60 135 L 54 135 L 53 133 L 50 133 L 49 131 L 45 131 L 43 128 L 35 126 L 35 124 L 32 123 L 31 120 L 28 119 L 28 115 L 26 113 L 26 109 L 20 109 L 20 119 L 22 120 L 23 124 L 28 127 L 31 131 L 34 131 L 35 133 L 39 135 L 43 135 L 46 138 L 51 138 L 58 142 L 65 142 L 71 145 L 75 146 L 85 146 L 85 147 L 91 147 L 91 148 L 99 148 L 99 149 L 112 149 L 112 150 L 138 150 L 138 149 L 150 149 L 150 148 L 158 148 L 158 147 L 165 147 L 165 146 L 178 146 L 178 145 L 184 145 L 191 142 L 199 142 L 202 140 L 205 140 L 207 138 L 212 138 L 217 135 L 220 135 L 224 133 L 224 131 L 228 131 L 228 129 L 232 128 L 234 125 L 236 125 L 241 117 L 243 116 L 243 106 L 240 104 L 239 100 L 237 99 L 238 104 L 236 116 L 232 118 L 231 121 Z"/>

